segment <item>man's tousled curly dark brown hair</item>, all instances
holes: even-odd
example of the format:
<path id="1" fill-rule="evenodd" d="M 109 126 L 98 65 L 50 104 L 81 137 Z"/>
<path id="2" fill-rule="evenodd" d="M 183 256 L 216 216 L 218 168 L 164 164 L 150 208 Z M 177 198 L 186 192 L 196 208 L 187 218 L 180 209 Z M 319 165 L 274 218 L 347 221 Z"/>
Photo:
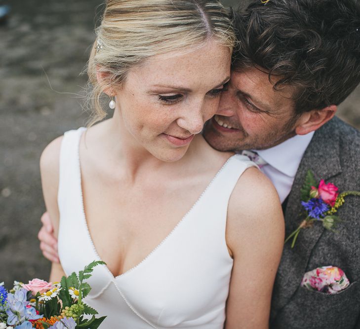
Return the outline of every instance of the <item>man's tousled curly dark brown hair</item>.
<path id="1" fill-rule="evenodd" d="M 338 105 L 360 82 L 360 0 L 251 0 L 234 26 L 233 70 L 294 86 L 297 113 Z"/>

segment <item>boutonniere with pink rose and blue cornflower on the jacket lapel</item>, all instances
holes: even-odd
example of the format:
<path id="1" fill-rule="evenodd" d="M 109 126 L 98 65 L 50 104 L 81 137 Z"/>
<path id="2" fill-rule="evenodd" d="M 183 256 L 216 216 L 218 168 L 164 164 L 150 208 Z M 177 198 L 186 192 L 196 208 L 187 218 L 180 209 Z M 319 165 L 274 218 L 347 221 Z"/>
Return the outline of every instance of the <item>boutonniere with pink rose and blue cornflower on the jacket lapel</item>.
<path id="1" fill-rule="evenodd" d="M 326 184 L 324 180 L 321 180 L 320 183 L 317 184 L 311 170 L 306 174 L 304 185 L 300 191 L 305 219 L 303 219 L 298 228 L 285 239 L 286 243 L 292 238 L 291 248 L 294 248 L 300 231 L 312 227 L 314 222 L 322 222 L 324 228 L 335 232 L 336 225 L 341 221 L 335 214 L 344 204 L 345 197 L 347 195 L 360 196 L 359 191 L 339 193 L 339 189 L 333 183 Z"/>

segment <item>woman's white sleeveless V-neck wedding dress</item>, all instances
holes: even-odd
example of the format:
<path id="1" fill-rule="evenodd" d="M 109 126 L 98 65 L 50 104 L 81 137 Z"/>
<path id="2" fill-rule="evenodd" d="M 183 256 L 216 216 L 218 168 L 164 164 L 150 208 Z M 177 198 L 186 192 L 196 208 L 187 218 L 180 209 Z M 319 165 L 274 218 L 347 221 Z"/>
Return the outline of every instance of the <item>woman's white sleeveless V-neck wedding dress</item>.
<path id="1" fill-rule="evenodd" d="M 84 130 L 65 133 L 60 151 L 58 249 L 67 275 L 100 260 L 83 209 L 79 141 Z M 233 267 L 225 241 L 228 202 L 251 166 L 243 155 L 230 157 L 172 232 L 135 267 L 117 277 L 105 265 L 95 267 L 85 299 L 107 315 L 100 328 L 223 328 Z"/>

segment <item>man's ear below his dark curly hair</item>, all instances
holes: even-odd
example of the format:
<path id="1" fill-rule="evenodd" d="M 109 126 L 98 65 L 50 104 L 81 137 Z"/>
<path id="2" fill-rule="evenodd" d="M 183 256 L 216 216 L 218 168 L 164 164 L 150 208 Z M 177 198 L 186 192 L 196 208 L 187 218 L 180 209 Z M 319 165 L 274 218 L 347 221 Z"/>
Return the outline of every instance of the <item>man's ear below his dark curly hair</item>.
<path id="1" fill-rule="evenodd" d="M 322 125 L 334 117 L 336 110 L 336 105 L 330 105 L 321 110 L 311 110 L 302 113 L 296 123 L 296 134 L 306 135 L 312 131 L 318 130 Z"/>

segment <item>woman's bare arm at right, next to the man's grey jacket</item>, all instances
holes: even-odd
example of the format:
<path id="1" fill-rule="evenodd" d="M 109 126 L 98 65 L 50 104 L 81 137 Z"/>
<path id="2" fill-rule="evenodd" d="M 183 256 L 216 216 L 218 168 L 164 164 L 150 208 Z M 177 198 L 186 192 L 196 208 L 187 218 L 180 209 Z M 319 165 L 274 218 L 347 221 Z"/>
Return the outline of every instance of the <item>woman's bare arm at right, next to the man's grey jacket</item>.
<path id="1" fill-rule="evenodd" d="M 267 329 L 284 220 L 278 194 L 255 168 L 241 176 L 229 202 L 226 239 L 234 266 L 226 329 Z"/>

